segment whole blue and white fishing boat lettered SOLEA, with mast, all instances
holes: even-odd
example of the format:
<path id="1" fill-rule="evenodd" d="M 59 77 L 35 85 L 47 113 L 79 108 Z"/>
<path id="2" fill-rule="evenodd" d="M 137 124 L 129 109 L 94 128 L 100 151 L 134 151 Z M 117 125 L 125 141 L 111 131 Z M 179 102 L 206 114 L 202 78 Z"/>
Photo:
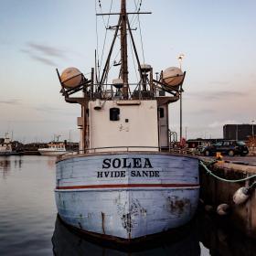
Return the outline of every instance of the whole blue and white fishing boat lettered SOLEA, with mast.
<path id="1" fill-rule="evenodd" d="M 101 74 L 97 65 L 88 78 L 76 68 L 57 69 L 65 101 L 81 106 L 80 150 L 57 160 L 59 217 L 81 232 L 119 242 L 185 225 L 197 210 L 199 190 L 197 158 L 169 151 L 168 105 L 181 98 L 186 72 L 172 67 L 154 78 L 135 47 L 132 14 L 122 0 Z M 128 37 L 136 82 L 128 78 Z M 114 68 L 120 70 L 110 81 L 118 39 L 121 59 Z"/>

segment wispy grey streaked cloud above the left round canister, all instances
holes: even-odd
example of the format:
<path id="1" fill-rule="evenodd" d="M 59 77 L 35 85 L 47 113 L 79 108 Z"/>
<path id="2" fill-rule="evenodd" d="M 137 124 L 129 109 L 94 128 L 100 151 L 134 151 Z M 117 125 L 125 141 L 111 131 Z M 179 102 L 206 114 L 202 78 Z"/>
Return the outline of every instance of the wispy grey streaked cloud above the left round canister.
<path id="1" fill-rule="evenodd" d="M 27 54 L 31 59 L 54 67 L 57 66 L 56 60 L 66 59 L 64 50 L 34 42 L 27 42 L 27 48 L 22 48 L 21 52 Z"/>

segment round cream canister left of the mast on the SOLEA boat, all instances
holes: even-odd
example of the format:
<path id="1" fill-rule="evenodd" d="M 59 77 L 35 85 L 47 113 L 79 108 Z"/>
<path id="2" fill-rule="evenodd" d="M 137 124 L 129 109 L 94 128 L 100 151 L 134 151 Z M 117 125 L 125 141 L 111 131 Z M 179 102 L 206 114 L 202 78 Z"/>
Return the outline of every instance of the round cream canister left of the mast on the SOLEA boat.
<path id="1" fill-rule="evenodd" d="M 60 76 L 60 80 L 63 83 L 63 85 L 68 88 L 74 88 L 76 86 L 79 86 L 82 80 L 82 74 L 80 72 L 80 69 L 65 69 Z"/>

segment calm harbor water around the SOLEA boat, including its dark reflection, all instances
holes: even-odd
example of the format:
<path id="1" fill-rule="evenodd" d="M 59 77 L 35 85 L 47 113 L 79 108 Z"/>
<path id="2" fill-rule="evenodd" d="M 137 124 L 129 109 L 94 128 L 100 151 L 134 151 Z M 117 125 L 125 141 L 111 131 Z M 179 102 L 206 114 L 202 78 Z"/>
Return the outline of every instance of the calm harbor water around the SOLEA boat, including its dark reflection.
<path id="1" fill-rule="evenodd" d="M 81 237 L 57 216 L 55 160 L 0 156 L 0 255 L 255 255 L 253 242 L 203 211 L 175 235 L 133 249 Z"/>

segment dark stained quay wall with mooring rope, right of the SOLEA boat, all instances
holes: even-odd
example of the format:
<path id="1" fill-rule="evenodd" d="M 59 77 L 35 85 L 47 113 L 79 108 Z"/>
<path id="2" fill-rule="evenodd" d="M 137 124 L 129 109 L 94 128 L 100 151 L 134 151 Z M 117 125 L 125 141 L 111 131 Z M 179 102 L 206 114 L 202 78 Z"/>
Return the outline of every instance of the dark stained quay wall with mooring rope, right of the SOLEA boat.
<path id="1" fill-rule="evenodd" d="M 212 161 L 212 158 L 199 158 L 206 164 Z M 256 239 L 256 157 L 228 158 L 208 165 L 208 170 L 211 173 L 200 166 L 200 202 L 207 211 L 218 212 L 220 219 L 225 219 L 246 237 Z M 248 195 L 239 195 L 238 203 L 234 195 L 239 189 L 239 192 L 243 190 L 241 187 L 250 189 Z"/>

